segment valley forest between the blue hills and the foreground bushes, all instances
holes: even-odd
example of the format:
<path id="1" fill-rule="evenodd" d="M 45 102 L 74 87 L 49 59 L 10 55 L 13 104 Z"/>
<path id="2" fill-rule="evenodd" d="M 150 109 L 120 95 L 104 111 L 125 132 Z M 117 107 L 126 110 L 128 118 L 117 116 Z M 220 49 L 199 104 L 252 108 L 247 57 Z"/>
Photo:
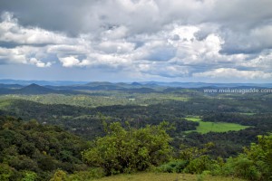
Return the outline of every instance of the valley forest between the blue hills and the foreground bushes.
<path id="1" fill-rule="evenodd" d="M 202 89 L 180 88 L 156 92 L 84 90 L 83 94 L 0 96 L 0 115 L 37 119 L 40 123 L 61 126 L 87 139 L 104 136 L 99 112 L 107 122 L 120 121 L 123 126 L 129 121 L 133 128 L 158 125 L 166 119 L 176 127 L 168 132 L 174 138 L 171 142 L 174 148 L 178 149 L 180 144 L 200 148 L 213 141 L 216 147 L 210 156 L 214 158 L 235 157 L 243 147 L 256 142 L 257 135 L 271 131 L 271 106 L 271 97 L 264 94 L 255 94 L 254 98 L 247 94 L 205 95 Z M 189 115 L 198 115 L 203 121 L 186 120 Z M 199 128 L 205 129 L 205 135 L 186 132 Z M 224 132 L 207 133 L 209 130 Z"/>

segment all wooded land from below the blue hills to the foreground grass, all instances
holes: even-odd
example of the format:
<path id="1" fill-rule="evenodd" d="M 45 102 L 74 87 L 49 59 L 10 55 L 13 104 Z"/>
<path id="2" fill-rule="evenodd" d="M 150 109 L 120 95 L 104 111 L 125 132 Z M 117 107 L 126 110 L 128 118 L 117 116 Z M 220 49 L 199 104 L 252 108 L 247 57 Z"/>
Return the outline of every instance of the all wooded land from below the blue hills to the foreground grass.
<path id="1" fill-rule="evenodd" d="M 1 89 L 1 180 L 88 180 L 143 170 L 271 178 L 269 93 L 105 82 Z M 203 134 L 205 122 L 245 129 Z"/>

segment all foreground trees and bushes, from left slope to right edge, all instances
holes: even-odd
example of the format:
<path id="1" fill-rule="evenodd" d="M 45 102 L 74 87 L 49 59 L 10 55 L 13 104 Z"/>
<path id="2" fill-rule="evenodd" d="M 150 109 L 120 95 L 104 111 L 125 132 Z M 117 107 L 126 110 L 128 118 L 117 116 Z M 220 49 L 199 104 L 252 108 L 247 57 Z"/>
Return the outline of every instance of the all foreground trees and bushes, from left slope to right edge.
<path id="1" fill-rule="evenodd" d="M 213 143 L 204 148 L 181 146 L 175 152 L 170 147 L 171 138 L 167 134 L 170 128 L 166 122 L 141 129 L 129 125 L 123 128 L 119 122 L 104 123 L 104 129 L 105 137 L 87 144 L 57 127 L 40 125 L 35 121 L 24 123 L 20 119 L 1 118 L 0 180 L 50 178 L 81 181 L 140 171 L 150 172 L 146 175 L 148 178 L 156 176 L 151 173 L 176 173 L 169 175 L 170 178 L 179 176 L 178 173 L 180 176 L 194 174 L 191 178 L 197 177 L 198 180 L 205 177 L 225 179 L 212 176 L 247 180 L 272 178 L 272 135 L 258 136 L 258 142 L 245 148 L 238 157 L 224 160 L 209 157 L 209 148 L 214 146 Z M 145 177 L 139 176 L 140 179 Z M 118 176 L 114 178 L 118 179 Z"/>

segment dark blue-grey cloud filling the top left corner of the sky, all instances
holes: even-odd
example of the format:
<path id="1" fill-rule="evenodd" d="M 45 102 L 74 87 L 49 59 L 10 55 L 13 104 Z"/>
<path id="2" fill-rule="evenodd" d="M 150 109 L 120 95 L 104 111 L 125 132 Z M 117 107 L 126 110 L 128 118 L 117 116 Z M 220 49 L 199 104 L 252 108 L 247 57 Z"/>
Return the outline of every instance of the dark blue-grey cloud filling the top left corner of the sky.
<path id="1" fill-rule="evenodd" d="M 1 0 L 0 11 L 12 12 L 24 26 L 76 35 L 83 31 L 88 7 L 97 0 Z"/>

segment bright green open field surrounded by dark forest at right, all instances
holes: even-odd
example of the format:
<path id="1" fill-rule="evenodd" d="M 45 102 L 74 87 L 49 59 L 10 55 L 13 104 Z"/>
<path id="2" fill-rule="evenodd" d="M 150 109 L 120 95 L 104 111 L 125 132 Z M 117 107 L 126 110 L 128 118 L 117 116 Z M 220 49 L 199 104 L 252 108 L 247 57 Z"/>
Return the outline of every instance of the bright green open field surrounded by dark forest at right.
<path id="1" fill-rule="evenodd" d="M 187 117 L 187 120 L 199 122 L 197 131 L 199 133 L 205 134 L 208 132 L 228 132 L 230 130 L 238 131 L 241 129 L 248 129 L 248 126 L 243 126 L 235 123 L 227 122 L 204 122 L 199 117 Z M 191 130 L 187 131 L 191 132 Z"/>

